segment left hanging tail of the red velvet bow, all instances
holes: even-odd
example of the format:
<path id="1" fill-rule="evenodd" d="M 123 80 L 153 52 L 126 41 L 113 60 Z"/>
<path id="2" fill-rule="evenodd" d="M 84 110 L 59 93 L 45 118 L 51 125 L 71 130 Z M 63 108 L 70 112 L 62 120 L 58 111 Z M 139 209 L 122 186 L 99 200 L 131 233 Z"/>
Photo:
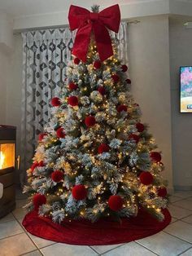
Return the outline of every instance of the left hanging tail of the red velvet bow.
<path id="1" fill-rule="evenodd" d="M 76 57 L 83 62 L 86 62 L 87 59 L 91 29 L 91 24 L 87 24 L 78 29 L 76 33 L 76 39 L 72 47 L 72 54 L 76 55 Z"/>

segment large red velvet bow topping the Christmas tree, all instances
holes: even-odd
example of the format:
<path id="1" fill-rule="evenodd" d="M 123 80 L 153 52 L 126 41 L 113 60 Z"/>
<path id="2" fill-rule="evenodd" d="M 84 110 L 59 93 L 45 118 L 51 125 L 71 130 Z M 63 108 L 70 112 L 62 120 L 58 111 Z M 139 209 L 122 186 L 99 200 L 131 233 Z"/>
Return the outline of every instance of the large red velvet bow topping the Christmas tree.
<path id="1" fill-rule="evenodd" d="M 90 12 L 82 7 L 71 6 L 68 20 L 71 30 L 77 30 L 72 54 L 83 62 L 89 47 L 91 33 L 98 48 L 100 60 L 107 60 L 113 55 L 111 38 L 107 29 L 118 33 L 120 27 L 120 7 L 114 5 L 100 12 Z"/>

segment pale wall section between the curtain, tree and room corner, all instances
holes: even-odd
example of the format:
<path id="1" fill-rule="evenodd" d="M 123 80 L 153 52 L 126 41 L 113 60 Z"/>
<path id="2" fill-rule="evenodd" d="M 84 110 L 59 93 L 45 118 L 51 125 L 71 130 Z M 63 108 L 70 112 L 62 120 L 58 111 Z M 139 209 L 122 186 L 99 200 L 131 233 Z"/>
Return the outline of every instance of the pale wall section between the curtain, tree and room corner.
<path id="1" fill-rule="evenodd" d="M 129 60 L 132 92 L 142 108 L 142 121 L 149 124 L 172 189 L 172 142 L 169 77 L 168 16 L 139 19 L 129 25 Z"/>

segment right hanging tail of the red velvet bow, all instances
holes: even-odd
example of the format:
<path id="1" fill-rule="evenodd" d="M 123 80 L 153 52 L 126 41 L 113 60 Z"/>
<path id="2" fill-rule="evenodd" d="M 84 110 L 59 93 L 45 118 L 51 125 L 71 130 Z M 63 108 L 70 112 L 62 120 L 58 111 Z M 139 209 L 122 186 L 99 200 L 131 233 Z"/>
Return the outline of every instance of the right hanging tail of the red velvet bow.
<path id="1" fill-rule="evenodd" d="M 108 33 L 108 30 L 105 26 L 101 24 L 94 24 L 94 37 L 95 42 L 98 48 L 98 55 L 100 60 L 104 61 L 107 60 L 109 57 L 113 55 L 113 50 L 111 46 L 111 38 Z"/>

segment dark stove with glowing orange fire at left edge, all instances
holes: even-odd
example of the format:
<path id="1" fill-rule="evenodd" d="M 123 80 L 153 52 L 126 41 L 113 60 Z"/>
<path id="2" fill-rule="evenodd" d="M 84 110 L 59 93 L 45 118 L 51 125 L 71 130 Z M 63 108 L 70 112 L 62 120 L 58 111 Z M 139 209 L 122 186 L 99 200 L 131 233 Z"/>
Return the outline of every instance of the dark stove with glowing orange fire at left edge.
<path id="1" fill-rule="evenodd" d="M 15 126 L 0 126 L 0 218 L 15 209 L 15 143 Z"/>

